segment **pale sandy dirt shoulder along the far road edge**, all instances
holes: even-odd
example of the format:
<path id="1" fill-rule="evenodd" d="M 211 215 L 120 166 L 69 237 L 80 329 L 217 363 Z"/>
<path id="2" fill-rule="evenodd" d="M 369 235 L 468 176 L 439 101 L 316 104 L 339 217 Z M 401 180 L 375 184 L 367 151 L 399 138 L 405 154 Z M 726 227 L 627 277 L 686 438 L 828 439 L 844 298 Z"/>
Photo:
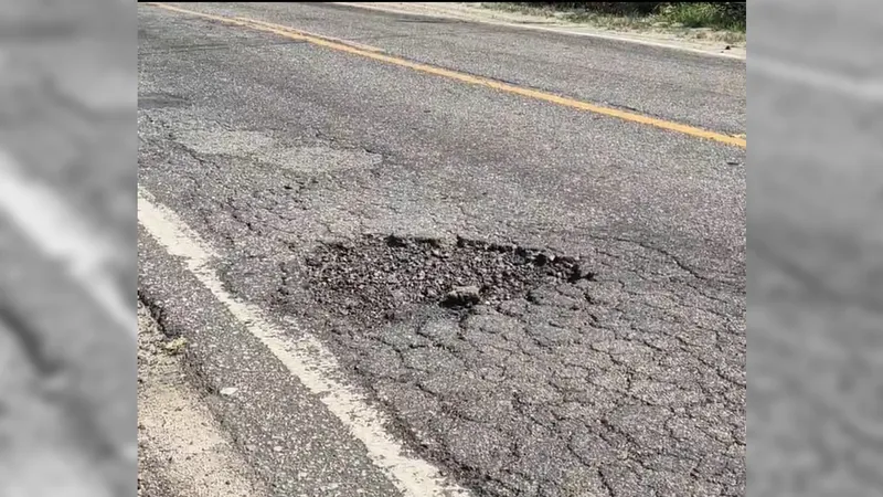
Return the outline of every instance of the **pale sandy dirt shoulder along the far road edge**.
<path id="1" fill-rule="evenodd" d="M 663 45 L 687 50 L 745 59 L 747 51 L 744 40 L 722 40 L 725 33 L 709 29 L 682 29 L 663 25 L 637 25 L 628 23 L 575 22 L 563 15 L 549 15 L 531 9 L 501 10 L 488 8 L 481 2 L 336 2 L 363 9 L 382 10 L 412 15 L 458 19 L 498 25 L 517 25 L 523 29 L 552 31 L 573 35 L 617 39 L 635 43 Z"/>

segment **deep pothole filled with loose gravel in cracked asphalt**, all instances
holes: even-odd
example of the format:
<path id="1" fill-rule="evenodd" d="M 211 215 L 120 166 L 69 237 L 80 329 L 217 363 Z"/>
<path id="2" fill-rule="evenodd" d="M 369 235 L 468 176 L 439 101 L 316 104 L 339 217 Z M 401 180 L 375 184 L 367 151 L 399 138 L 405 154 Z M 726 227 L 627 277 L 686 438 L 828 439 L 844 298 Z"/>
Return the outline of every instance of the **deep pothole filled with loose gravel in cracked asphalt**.
<path id="1" fill-rule="evenodd" d="M 376 235 L 321 245 L 306 273 L 317 304 L 369 320 L 389 320 L 413 304 L 494 306 L 541 285 L 594 278 L 577 257 L 519 245 Z"/>

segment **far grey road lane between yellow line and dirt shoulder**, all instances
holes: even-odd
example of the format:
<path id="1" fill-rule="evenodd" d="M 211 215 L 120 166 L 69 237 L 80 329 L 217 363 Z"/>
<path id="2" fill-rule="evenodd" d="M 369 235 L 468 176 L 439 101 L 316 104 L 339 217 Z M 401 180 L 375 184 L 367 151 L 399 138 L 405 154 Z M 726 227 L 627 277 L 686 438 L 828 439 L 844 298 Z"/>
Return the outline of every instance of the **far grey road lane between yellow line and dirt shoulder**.
<path id="1" fill-rule="evenodd" d="M 200 10 L 297 27 L 417 62 L 719 131 L 745 133 L 743 61 L 336 4 L 304 3 L 292 10 L 284 3 L 205 3 Z"/>

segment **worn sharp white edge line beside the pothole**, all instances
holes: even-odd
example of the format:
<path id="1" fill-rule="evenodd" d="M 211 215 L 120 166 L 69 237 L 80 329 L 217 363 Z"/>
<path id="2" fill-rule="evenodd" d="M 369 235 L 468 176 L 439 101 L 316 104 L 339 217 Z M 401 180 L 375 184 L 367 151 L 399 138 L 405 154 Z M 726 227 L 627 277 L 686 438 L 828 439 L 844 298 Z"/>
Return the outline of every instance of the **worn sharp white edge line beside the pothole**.
<path id="1" fill-rule="evenodd" d="M 429 463 L 408 457 L 404 447 L 384 430 L 385 419 L 369 406 L 354 389 L 341 383 L 337 359 L 313 336 L 304 332 L 291 339 L 263 316 L 257 306 L 235 299 L 224 289 L 211 267 L 213 251 L 173 211 L 152 200 L 139 188 L 138 222 L 166 251 L 180 257 L 188 269 L 214 297 L 241 321 L 246 329 L 297 378 L 315 393 L 364 444 L 371 461 L 408 497 L 469 496 L 469 493 L 447 483 Z M 299 330 L 302 331 L 302 330 Z"/>

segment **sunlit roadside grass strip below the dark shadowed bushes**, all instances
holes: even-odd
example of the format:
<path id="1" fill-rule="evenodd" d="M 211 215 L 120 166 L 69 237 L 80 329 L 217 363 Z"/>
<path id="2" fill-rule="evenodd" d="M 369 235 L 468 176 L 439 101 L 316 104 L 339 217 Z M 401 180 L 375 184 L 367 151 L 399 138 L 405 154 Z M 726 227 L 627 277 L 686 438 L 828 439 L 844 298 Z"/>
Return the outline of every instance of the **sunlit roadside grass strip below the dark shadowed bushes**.
<path id="1" fill-rule="evenodd" d="M 631 12 L 610 13 L 594 7 L 581 7 L 579 3 L 483 2 L 481 7 L 588 24 L 613 31 L 666 32 L 682 38 L 721 41 L 728 44 L 740 44 L 746 40 L 744 18 L 727 18 L 720 9 L 720 4 L 708 2 L 672 2 L 650 13 L 641 12 L 638 9 Z"/>

